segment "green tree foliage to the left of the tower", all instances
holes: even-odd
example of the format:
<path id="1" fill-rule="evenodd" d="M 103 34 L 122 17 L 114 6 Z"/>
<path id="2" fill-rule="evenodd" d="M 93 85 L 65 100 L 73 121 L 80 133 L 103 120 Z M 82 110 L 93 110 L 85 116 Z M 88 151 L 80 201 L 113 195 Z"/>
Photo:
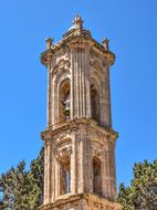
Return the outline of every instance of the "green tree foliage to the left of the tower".
<path id="1" fill-rule="evenodd" d="M 1 175 L 0 191 L 0 209 L 35 210 L 43 199 L 43 148 L 38 158 L 32 160 L 30 170 L 25 170 L 22 160 L 17 168 L 12 167 Z"/>

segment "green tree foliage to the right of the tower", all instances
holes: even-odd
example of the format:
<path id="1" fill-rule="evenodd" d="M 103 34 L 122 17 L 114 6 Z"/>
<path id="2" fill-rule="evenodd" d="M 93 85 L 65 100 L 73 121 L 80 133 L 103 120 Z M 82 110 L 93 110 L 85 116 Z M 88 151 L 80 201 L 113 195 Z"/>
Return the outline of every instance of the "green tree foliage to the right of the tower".
<path id="1" fill-rule="evenodd" d="M 119 187 L 124 210 L 157 210 L 157 160 L 135 164 L 130 187 Z"/>

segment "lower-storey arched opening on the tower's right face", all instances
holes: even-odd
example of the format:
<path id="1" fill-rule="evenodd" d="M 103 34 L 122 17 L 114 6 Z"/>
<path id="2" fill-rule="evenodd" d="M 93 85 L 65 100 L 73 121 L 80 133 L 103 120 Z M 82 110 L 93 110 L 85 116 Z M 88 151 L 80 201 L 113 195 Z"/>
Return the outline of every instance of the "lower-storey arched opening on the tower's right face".
<path id="1" fill-rule="evenodd" d="M 102 161 L 100 158 L 93 158 L 93 192 L 102 195 Z"/>

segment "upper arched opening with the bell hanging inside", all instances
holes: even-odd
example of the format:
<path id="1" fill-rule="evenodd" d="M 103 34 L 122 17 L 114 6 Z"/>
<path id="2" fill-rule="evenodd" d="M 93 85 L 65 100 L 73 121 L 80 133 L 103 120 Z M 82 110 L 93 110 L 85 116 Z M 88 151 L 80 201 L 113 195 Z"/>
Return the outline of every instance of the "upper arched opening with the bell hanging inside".
<path id="1" fill-rule="evenodd" d="M 71 85 L 70 80 L 61 83 L 59 88 L 59 123 L 70 119 L 71 108 Z"/>

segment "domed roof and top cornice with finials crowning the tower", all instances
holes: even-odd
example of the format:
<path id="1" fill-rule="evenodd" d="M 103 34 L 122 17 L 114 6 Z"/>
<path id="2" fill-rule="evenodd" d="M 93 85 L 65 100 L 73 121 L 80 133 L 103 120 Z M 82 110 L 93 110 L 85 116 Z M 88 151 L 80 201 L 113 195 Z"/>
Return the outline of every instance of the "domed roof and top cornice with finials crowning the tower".
<path id="1" fill-rule="evenodd" d="M 82 18 L 77 14 L 75 15 L 73 20 L 73 25 L 63 34 L 63 39 L 59 41 L 55 44 L 48 43 L 46 51 L 44 51 L 41 54 L 41 62 L 46 65 L 46 54 L 55 53 L 62 48 L 70 46 L 71 43 L 76 43 L 76 42 L 84 42 L 88 43 L 93 49 L 95 49 L 98 53 L 104 55 L 105 57 L 107 56 L 107 60 L 109 64 L 112 65 L 115 61 L 115 55 L 112 53 L 108 49 L 108 40 L 105 39 L 103 40 L 103 43 L 98 43 L 95 39 L 92 38 L 91 32 L 83 27 L 83 20 Z M 50 40 L 50 39 L 49 39 Z"/>

